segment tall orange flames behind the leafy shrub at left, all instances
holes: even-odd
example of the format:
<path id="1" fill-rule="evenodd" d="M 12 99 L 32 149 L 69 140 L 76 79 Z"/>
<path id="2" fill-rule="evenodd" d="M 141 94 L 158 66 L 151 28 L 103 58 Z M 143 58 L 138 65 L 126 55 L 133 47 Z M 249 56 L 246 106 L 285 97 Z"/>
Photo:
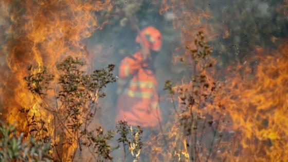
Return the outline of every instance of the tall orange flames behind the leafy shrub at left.
<path id="1" fill-rule="evenodd" d="M 40 70 L 43 66 L 57 78 L 56 64 L 65 56 L 81 57 L 87 60 L 87 51 L 82 40 L 93 31 L 103 28 L 98 25 L 95 12 L 111 10 L 110 1 L 10 1 L 0 2 L 0 13 L 5 24 L 5 37 L 1 58 L 2 112 L 7 122 L 17 121 L 20 131 L 26 128 L 25 119 L 20 115 L 21 107 L 32 107 L 30 113 L 37 117 L 46 116 L 48 132 L 53 134 L 52 115 L 41 108 L 41 99 L 29 93 L 24 77 L 27 67 L 32 64 Z M 1 17 L 2 18 L 2 17 Z M 0 22 L 2 19 L 0 19 Z M 107 23 L 107 22 L 104 22 Z M 87 60 L 88 61 L 88 60 Z M 36 71 L 34 71 L 36 73 Z M 52 83 L 56 84 L 57 80 Z M 49 97 L 55 96 L 48 92 Z M 96 97 L 96 96 L 95 96 Z M 55 141 L 59 141 L 56 138 Z M 76 143 L 74 145 L 76 147 Z M 67 159 L 69 151 L 67 151 Z"/>

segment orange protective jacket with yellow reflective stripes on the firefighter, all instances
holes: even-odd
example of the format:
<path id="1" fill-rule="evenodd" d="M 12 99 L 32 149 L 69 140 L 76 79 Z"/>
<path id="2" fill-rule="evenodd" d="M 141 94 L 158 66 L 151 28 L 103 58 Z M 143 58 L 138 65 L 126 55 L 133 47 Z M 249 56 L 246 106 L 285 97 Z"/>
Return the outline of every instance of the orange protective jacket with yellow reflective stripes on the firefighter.
<path id="1" fill-rule="evenodd" d="M 154 127 L 161 120 L 158 109 L 157 81 L 151 65 L 142 59 L 140 51 L 125 57 L 119 67 L 116 122 Z"/>

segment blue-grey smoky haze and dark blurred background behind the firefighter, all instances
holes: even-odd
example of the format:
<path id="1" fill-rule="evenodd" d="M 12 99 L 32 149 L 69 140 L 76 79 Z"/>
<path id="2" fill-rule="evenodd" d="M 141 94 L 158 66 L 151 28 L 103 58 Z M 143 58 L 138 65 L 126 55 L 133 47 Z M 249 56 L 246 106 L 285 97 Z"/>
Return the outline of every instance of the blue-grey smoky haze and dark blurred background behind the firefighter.
<path id="1" fill-rule="evenodd" d="M 163 11 L 165 2 L 170 8 Z M 111 12 L 98 13 L 99 23 L 108 22 L 85 40 L 94 68 L 113 63 L 116 65 L 117 75 L 120 61 L 139 50 L 139 45 L 135 42 L 137 32 L 131 28 L 129 14 L 135 13 L 140 29 L 149 25 L 158 28 L 163 34 L 163 48 L 154 60 L 154 66 L 164 119 L 169 116 L 172 108 L 171 103 L 165 99 L 167 93 L 163 91 L 164 83 L 168 79 L 181 82 L 186 73 L 179 61 L 173 59 L 173 56 L 183 55 L 183 29 L 196 33 L 199 26 L 204 24 L 205 28 L 200 30 L 207 29 L 204 32 L 213 47 L 212 55 L 218 61 L 215 66 L 221 70 L 228 64 L 244 63 L 245 58 L 254 55 L 253 51 L 258 46 L 266 50 L 277 48 L 286 37 L 288 27 L 285 2 L 280 0 L 195 1 L 191 6 L 179 5 L 179 2 L 181 1 L 115 1 Z M 188 37 L 192 35 L 188 34 Z M 102 125 L 110 129 L 115 127 L 116 88 L 117 83 L 106 88 L 107 96 L 101 101 L 103 114 L 98 116 Z"/>

